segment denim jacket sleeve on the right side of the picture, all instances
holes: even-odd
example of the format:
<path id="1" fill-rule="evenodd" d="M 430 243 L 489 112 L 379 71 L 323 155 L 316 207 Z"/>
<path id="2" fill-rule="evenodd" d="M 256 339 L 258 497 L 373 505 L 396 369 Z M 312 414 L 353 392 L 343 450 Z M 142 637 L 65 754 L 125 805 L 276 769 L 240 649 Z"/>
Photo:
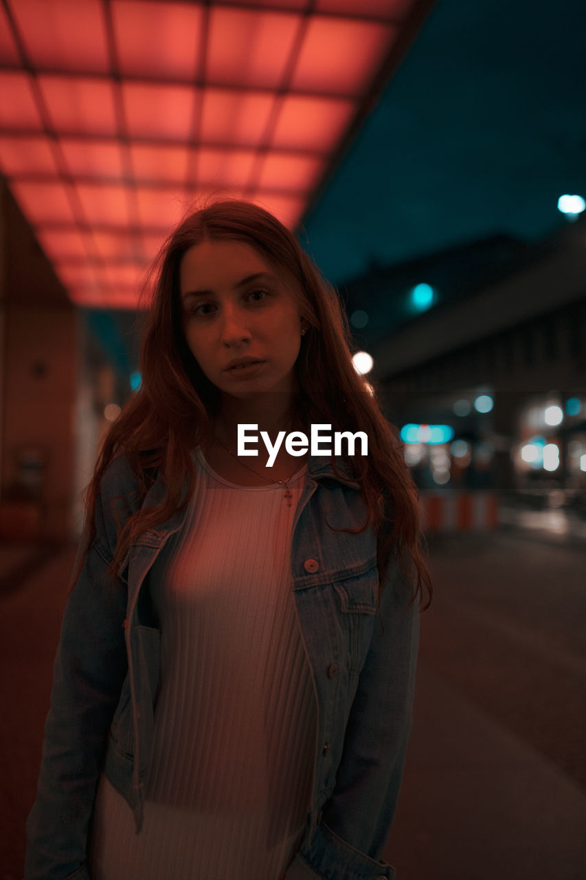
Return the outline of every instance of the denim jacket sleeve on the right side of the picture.
<path id="1" fill-rule="evenodd" d="M 318 880 L 326 867 L 343 876 L 396 876 L 380 862 L 391 830 L 411 731 L 419 648 L 419 606 L 396 563 L 387 567 L 370 647 L 350 709 L 333 794 L 325 803 L 310 850 L 289 865 L 287 880 Z M 303 857 L 304 856 L 304 857 Z M 327 876 L 330 876 L 328 874 Z M 336 878 L 335 871 L 331 873 Z"/>

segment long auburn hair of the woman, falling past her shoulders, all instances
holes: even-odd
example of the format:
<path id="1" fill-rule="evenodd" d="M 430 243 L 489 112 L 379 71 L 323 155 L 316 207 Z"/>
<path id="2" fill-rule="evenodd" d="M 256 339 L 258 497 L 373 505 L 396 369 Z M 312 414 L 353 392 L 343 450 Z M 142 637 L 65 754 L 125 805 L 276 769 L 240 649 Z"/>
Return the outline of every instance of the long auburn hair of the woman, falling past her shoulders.
<path id="1" fill-rule="evenodd" d="M 165 500 L 156 507 L 139 509 L 118 526 L 112 576 L 121 568 L 130 545 L 143 532 L 163 524 L 182 510 L 194 494 L 196 472 L 192 451 L 213 436 L 213 415 L 219 390 L 202 372 L 183 332 L 179 295 L 179 265 L 189 248 L 201 241 L 233 240 L 251 246 L 277 272 L 295 281 L 291 291 L 301 317 L 309 323 L 302 337 L 295 370 L 298 383 L 297 417 L 305 426 L 331 423 L 334 430 L 365 431 L 368 456 L 356 473 L 368 517 L 362 528 L 336 529 L 377 535 L 379 590 L 391 554 L 414 581 L 411 602 L 423 590 L 432 594 L 425 560 L 419 494 L 403 456 L 397 429 L 387 421 L 372 385 L 367 385 L 352 363 L 348 318 L 333 286 L 275 216 L 252 202 L 217 201 L 186 216 L 161 247 L 143 291 L 152 290 L 143 323 L 139 370 L 142 382 L 106 431 L 85 489 L 87 541 L 84 556 L 96 536 L 95 505 L 106 468 L 125 453 L 139 486 L 142 503 L 157 479 L 163 480 Z M 346 456 L 344 456 L 346 458 Z M 332 457 L 333 470 L 338 473 Z M 187 493 L 185 485 L 187 480 Z M 114 500 L 113 500 L 114 503 Z M 332 528 L 332 526 L 329 526 Z M 415 578 L 413 575 L 416 573 Z M 379 592 L 380 598 L 380 592 Z"/>

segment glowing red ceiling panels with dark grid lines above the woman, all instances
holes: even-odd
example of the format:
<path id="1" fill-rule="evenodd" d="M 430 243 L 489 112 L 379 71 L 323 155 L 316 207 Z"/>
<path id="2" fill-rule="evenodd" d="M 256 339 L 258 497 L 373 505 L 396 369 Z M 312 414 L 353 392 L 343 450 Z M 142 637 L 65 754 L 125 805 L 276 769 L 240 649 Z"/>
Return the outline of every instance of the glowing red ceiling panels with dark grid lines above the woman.
<path id="1" fill-rule="evenodd" d="M 2 0 L 0 168 L 80 305 L 207 196 L 294 228 L 416 0 Z"/>

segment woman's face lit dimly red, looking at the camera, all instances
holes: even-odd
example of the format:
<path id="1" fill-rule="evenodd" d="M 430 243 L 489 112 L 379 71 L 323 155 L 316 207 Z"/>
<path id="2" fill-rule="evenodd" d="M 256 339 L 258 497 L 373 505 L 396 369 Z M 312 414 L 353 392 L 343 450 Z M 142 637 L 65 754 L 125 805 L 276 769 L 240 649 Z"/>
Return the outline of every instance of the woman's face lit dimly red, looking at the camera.
<path id="1" fill-rule="evenodd" d="M 183 255 L 179 292 L 187 345 L 222 392 L 250 398 L 294 390 L 302 321 L 291 284 L 239 241 L 206 239 Z M 229 369 L 243 357 L 261 363 Z"/>

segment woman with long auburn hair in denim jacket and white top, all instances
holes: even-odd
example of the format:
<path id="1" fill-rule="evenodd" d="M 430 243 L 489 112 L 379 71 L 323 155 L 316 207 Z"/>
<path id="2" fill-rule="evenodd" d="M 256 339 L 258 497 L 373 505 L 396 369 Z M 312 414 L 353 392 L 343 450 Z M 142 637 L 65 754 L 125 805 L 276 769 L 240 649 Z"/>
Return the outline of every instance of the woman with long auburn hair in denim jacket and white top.
<path id="1" fill-rule="evenodd" d="M 26 878 L 392 877 L 431 589 L 396 433 L 263 209 L 188 216 L 155 279 L 88 487 Z M 238 425 L 276 449 L 316 424 L 368 455 L 238 450 Z"/>

